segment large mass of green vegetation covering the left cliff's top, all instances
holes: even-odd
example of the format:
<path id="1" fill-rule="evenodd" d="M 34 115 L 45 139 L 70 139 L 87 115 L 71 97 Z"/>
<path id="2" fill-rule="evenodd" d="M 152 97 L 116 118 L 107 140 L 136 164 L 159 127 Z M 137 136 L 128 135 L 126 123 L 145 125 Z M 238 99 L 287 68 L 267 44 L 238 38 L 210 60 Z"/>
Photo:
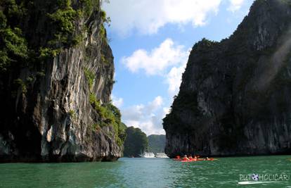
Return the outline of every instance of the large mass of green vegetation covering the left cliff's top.
<path id="1" fill-rule="evenodd" d="M 31 66 L 34 61 L 56 57 L 63 49 L 79 44 L 83 39 L 83 29 L 89 31 L 85 26 L 83 31 L 79 30 L 76 23 L 92 11 L 98 11 L 99 4 L 96 0 L 82 0 L 78 4 L 72 4 L 71 0 L 51 0 L 41 4 L 37 0 L 0 1 L 0 71 L 25 63 Z M 103 23 L 110 22 L 104 11 L 99 10 L 99 13 Z M 27 23 L 26 18 L 34 17 L 39 20 L 36 24 L 45 23 L 47 30 L 30 31 L 27 27 L 31 23 Z M 103 23 L 100 32 L 105 39 Z M 27 42 L 32 37 L 39 42 Z"/>

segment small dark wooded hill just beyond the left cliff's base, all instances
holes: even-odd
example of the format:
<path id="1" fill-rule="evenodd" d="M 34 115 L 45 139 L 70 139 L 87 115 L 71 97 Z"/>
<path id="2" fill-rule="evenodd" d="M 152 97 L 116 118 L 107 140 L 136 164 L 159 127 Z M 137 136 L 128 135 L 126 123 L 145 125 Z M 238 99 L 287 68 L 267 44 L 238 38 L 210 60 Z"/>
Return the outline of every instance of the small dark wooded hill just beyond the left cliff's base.
<path id="1" fill-rule="evenodd" d="M 127 139 L 124 142 L 124 156 L 138 157 L 139 154 L 147 151 L 148 137 L 139 128 L 128 127 L 126 130 Z"/>

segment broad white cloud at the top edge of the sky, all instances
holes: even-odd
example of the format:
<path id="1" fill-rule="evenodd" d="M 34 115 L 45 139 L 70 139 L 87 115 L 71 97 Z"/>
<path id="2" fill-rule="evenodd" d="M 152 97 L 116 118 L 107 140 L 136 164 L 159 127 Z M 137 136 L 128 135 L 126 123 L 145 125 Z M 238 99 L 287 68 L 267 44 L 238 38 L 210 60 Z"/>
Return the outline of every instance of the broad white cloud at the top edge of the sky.
<path id="1" fill-rule="evenodd" d="M 124 36 L 132 30 L 150 35 L 167 23 L 205 25 L 220 4 L 221 0 L 114 0 L 103 8 L 111 18 L 112 29 Z"/>

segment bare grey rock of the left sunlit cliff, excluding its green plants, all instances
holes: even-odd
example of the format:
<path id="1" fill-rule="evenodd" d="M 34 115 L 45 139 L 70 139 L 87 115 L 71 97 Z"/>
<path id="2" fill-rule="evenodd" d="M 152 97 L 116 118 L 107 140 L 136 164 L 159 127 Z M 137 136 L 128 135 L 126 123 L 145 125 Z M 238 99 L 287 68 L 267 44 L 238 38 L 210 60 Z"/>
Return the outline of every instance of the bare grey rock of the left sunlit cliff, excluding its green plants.
<path id="1" fill-rule="evenodd" d="M 37 46 L 55 28 L 47 28 L 44 1 L 35 0 L 34 6 L 22 32 L 28 44 Z M 115 71 L 101 16 L 98 2 L 74 22 L 74 33 L 82 33 L 78 44 L 34 62 L 38 68 L 17 67 L 0 76 L 0 162 L 115 161 L 122 156 L 116 130 L 98 126 L 104 119 L 90 102 L 91 95 L 101 104 L 110 101 Z M 94 75 L 91 83 L 85 70 Z M 33 79 L 25 91 L 13 87 L 13 80 L 27 77 Z"/>

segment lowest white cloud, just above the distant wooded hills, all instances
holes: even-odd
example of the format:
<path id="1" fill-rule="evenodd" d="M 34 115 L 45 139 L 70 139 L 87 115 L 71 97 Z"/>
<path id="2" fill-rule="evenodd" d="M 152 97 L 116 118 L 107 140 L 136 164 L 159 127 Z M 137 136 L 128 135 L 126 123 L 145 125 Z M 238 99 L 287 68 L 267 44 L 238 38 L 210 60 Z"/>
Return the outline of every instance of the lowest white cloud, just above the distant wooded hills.
<path id="1" fill-rule="evenodd" d="M 128 127 L 139 127 L 147 135 L 165 134 L 162 129 L 162 118 L 165 115 L 165 109 L 162 107 L 163 99 L 161 96 L 155 97 L 148 104 L 139 104 L 122 108 L 122 121 Z"/>

